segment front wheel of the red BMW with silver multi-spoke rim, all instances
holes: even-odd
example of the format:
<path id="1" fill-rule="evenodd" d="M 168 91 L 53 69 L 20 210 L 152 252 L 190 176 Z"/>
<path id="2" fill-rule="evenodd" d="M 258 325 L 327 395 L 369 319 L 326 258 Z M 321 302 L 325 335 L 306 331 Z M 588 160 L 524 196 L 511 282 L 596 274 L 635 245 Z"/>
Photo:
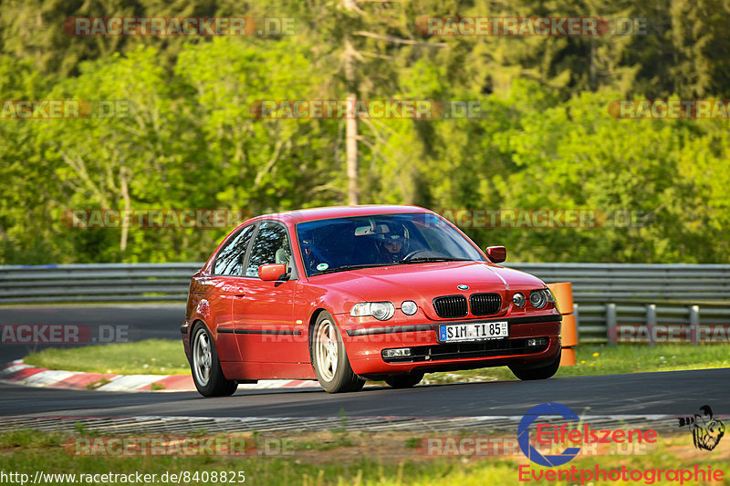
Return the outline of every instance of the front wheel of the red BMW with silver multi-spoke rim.
<path id="1" fill-rule="evenodd" d="M 314 326 L 312 366 L 319 385 L 328 393 L 358 391 L 365 385 L 365 380 L 355 375 L 349 366 L 339 327 L 328 312 L 320 313 Z"/>

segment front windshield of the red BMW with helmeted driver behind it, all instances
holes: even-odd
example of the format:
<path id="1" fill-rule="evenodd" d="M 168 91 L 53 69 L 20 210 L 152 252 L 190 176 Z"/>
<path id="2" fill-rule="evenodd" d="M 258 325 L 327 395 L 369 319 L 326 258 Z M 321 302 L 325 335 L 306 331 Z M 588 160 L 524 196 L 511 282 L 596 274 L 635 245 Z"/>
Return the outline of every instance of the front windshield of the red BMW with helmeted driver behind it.
<path id="1" fill-rule="evenodd" d="M 485 259 L 433 214 L 377 214 L 297 224 L 308 276 L 391 264 Z"/>

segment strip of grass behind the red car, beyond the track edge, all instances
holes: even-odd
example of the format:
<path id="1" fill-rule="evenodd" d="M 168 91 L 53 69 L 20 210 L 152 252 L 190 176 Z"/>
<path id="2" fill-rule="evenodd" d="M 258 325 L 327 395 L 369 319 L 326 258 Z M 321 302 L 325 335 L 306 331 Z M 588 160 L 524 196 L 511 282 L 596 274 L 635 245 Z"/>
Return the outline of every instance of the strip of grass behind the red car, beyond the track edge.
<path id="1" fill-rule="evenodd" d="M 726 345 L 582 345 L 577 365 L 561 367 L 558 377 L 615 375 L 650 371 L 674 371 L 730 367 Z M 26 364 L 48 369 L 122 375 L 187 375 L 190 373 L 183 345 L 178 341 L 152 339 L 138 343 L 46 349 L 26 357 Z M 507 367 L 480 368 L 426 375 L 427 383 L 516 379 Z"/>

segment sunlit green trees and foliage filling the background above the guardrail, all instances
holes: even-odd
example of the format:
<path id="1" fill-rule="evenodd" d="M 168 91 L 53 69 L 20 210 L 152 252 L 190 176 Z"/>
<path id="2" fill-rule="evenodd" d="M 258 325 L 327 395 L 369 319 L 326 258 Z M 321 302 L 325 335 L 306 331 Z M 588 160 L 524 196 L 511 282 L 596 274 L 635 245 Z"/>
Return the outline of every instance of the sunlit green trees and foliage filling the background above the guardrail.
<path id="1" fill-rule="evenodd" d="M 475 100 L 481 117 L 360 119 L 365 203 L 590 209 L 631 227 L 472 228 L 511 261 L 730 263 L 730 136 L 715 120 L 613 119 L 612 100 L 728 98 L 719 0 L 68 5 L 8 2 L 3 99 L 122 100 L 129 116 L 0 119 L 0 264 L 201 261 L 230 228 L 71 228 L 69 209 L 347 201 L 343 119 L 257 119 L 262 99 Z M 264 16 L 294 36 L 72 37 L 68 16 Z M 422 16 L 646 17 L 646 36 L 422 37 Z M 402 41 L 394 42 L 393 39 Z M 343 53 L 356 51 L 357 86 Z"/>

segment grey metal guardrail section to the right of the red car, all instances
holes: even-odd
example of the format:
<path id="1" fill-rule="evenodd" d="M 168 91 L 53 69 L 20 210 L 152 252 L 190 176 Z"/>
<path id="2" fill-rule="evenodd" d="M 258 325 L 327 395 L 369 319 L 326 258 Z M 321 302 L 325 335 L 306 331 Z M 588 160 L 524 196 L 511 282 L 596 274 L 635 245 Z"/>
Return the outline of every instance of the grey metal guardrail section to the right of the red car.
<path id="1" fill-rule="evenodd" d="M 620 325 L 730 324 L 730 265 L 506 264 L 547 284 L 571 282 L 581 343 L 605 343 Z"/>

